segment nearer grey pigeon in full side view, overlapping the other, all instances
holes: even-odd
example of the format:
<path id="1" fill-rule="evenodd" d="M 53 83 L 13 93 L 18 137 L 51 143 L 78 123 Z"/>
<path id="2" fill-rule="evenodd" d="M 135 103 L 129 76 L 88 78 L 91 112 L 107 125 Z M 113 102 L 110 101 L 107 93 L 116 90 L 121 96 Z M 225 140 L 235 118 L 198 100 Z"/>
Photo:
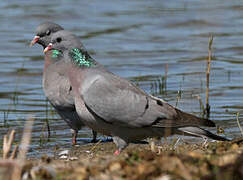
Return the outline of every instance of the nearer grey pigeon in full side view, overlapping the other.
<path id="1" fill-rule="evenodd" d="M 147 137 L 184 133 L 227 140 L 199 127 L 215 127 L 211 120 L 182 112 L 100 67 L 72 33 L 53 34 L 44 52 L 51 49 L 59 54 L 56 62 L 65 64 L 79 117 L 95 131 L 113 137 L 118 148 L 115 154 L 129 142 Z"/>

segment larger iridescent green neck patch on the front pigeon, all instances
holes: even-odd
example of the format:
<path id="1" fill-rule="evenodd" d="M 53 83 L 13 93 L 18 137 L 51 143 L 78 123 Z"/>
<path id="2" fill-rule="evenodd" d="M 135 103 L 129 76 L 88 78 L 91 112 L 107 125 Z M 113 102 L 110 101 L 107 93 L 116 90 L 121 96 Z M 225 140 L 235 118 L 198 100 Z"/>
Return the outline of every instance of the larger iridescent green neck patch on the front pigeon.
<path id="1" fill-rule="evenodd" d="M 69 55 L 72 58 L 72 60 L 75 62 L 75 64 L 77 64 L 80 67 L 82 66 L 91 67 L 95 65 L 92 59 L 90 58 L 90 56 L 87 53 L 83 53 L 78 48 L 73 48 L 69 52 Z"/>

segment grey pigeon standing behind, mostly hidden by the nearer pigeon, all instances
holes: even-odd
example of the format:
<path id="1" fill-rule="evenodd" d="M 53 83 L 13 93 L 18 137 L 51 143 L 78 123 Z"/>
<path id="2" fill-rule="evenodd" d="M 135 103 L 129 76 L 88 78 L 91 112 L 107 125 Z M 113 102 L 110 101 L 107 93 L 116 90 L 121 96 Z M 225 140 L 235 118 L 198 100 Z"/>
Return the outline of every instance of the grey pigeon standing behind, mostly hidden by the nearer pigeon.
<path id="1" fill-rule="evenodd" d="M 38 43 L 46 48 L 51 42 L 52 34 L 60 30 L 63 30 L 60 25 L 44 22 L 37 27 L 36 36 L 30 45 Z M 78 130 L 84 126 L 84 123 L 76 112 L 71 84 L 67 77 L 59 73 L 59 68 L 63 67 L 57 66 L 51 59 L 51 53 L 47 53 L 43 72 L 43 89 L 52 106 L 73 130 L 72 144 L 75 145 Z M 96 141 L 96 135 L 97 133 L 93 131 L 92 142 Z"/>

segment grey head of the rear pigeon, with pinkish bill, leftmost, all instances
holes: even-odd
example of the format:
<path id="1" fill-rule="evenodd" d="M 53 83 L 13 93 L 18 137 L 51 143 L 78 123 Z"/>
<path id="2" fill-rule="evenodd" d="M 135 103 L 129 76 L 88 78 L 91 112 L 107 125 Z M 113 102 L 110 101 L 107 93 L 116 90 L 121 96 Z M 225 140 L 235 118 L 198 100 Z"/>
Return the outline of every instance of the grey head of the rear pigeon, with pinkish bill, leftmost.
<path id="1" fill-rule="evenodd" d="M 47 45 L 51 42 L 52 34 L 60 30 L 63 30 L 63 28 L 56 23 L 52 23 L 52 22 L 41 23 L 36 28 L 36 35 L 31 41 L 30 46 L 33 46 L 35 43 L 38 43 L 42 45 L 43 48 L 46 48 Z"/>

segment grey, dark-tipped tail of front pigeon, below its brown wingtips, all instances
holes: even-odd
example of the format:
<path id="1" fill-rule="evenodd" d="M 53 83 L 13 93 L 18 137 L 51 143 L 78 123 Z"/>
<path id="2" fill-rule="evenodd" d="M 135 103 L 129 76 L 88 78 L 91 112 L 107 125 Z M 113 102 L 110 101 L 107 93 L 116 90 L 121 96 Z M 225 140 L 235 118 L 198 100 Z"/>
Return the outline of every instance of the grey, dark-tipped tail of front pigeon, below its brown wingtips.
<path id="1" fill-rule="evenodd" d="M 207 138 L 211 138 L 214 140 L 218 140 L 218 141 L 230 141 L 227 138 L 224 138 L 222 136 L 218 136 L 216 134 L 211 133 L 210 131 L 207 131 L 205 129 L 199 128 L 199 127 L 181 127 L 178 128 L 179 131 L 187 133 L 189 135 L 193 135 L 193 136 L 199 136 L 199 137 L 207 137 Z"/>

